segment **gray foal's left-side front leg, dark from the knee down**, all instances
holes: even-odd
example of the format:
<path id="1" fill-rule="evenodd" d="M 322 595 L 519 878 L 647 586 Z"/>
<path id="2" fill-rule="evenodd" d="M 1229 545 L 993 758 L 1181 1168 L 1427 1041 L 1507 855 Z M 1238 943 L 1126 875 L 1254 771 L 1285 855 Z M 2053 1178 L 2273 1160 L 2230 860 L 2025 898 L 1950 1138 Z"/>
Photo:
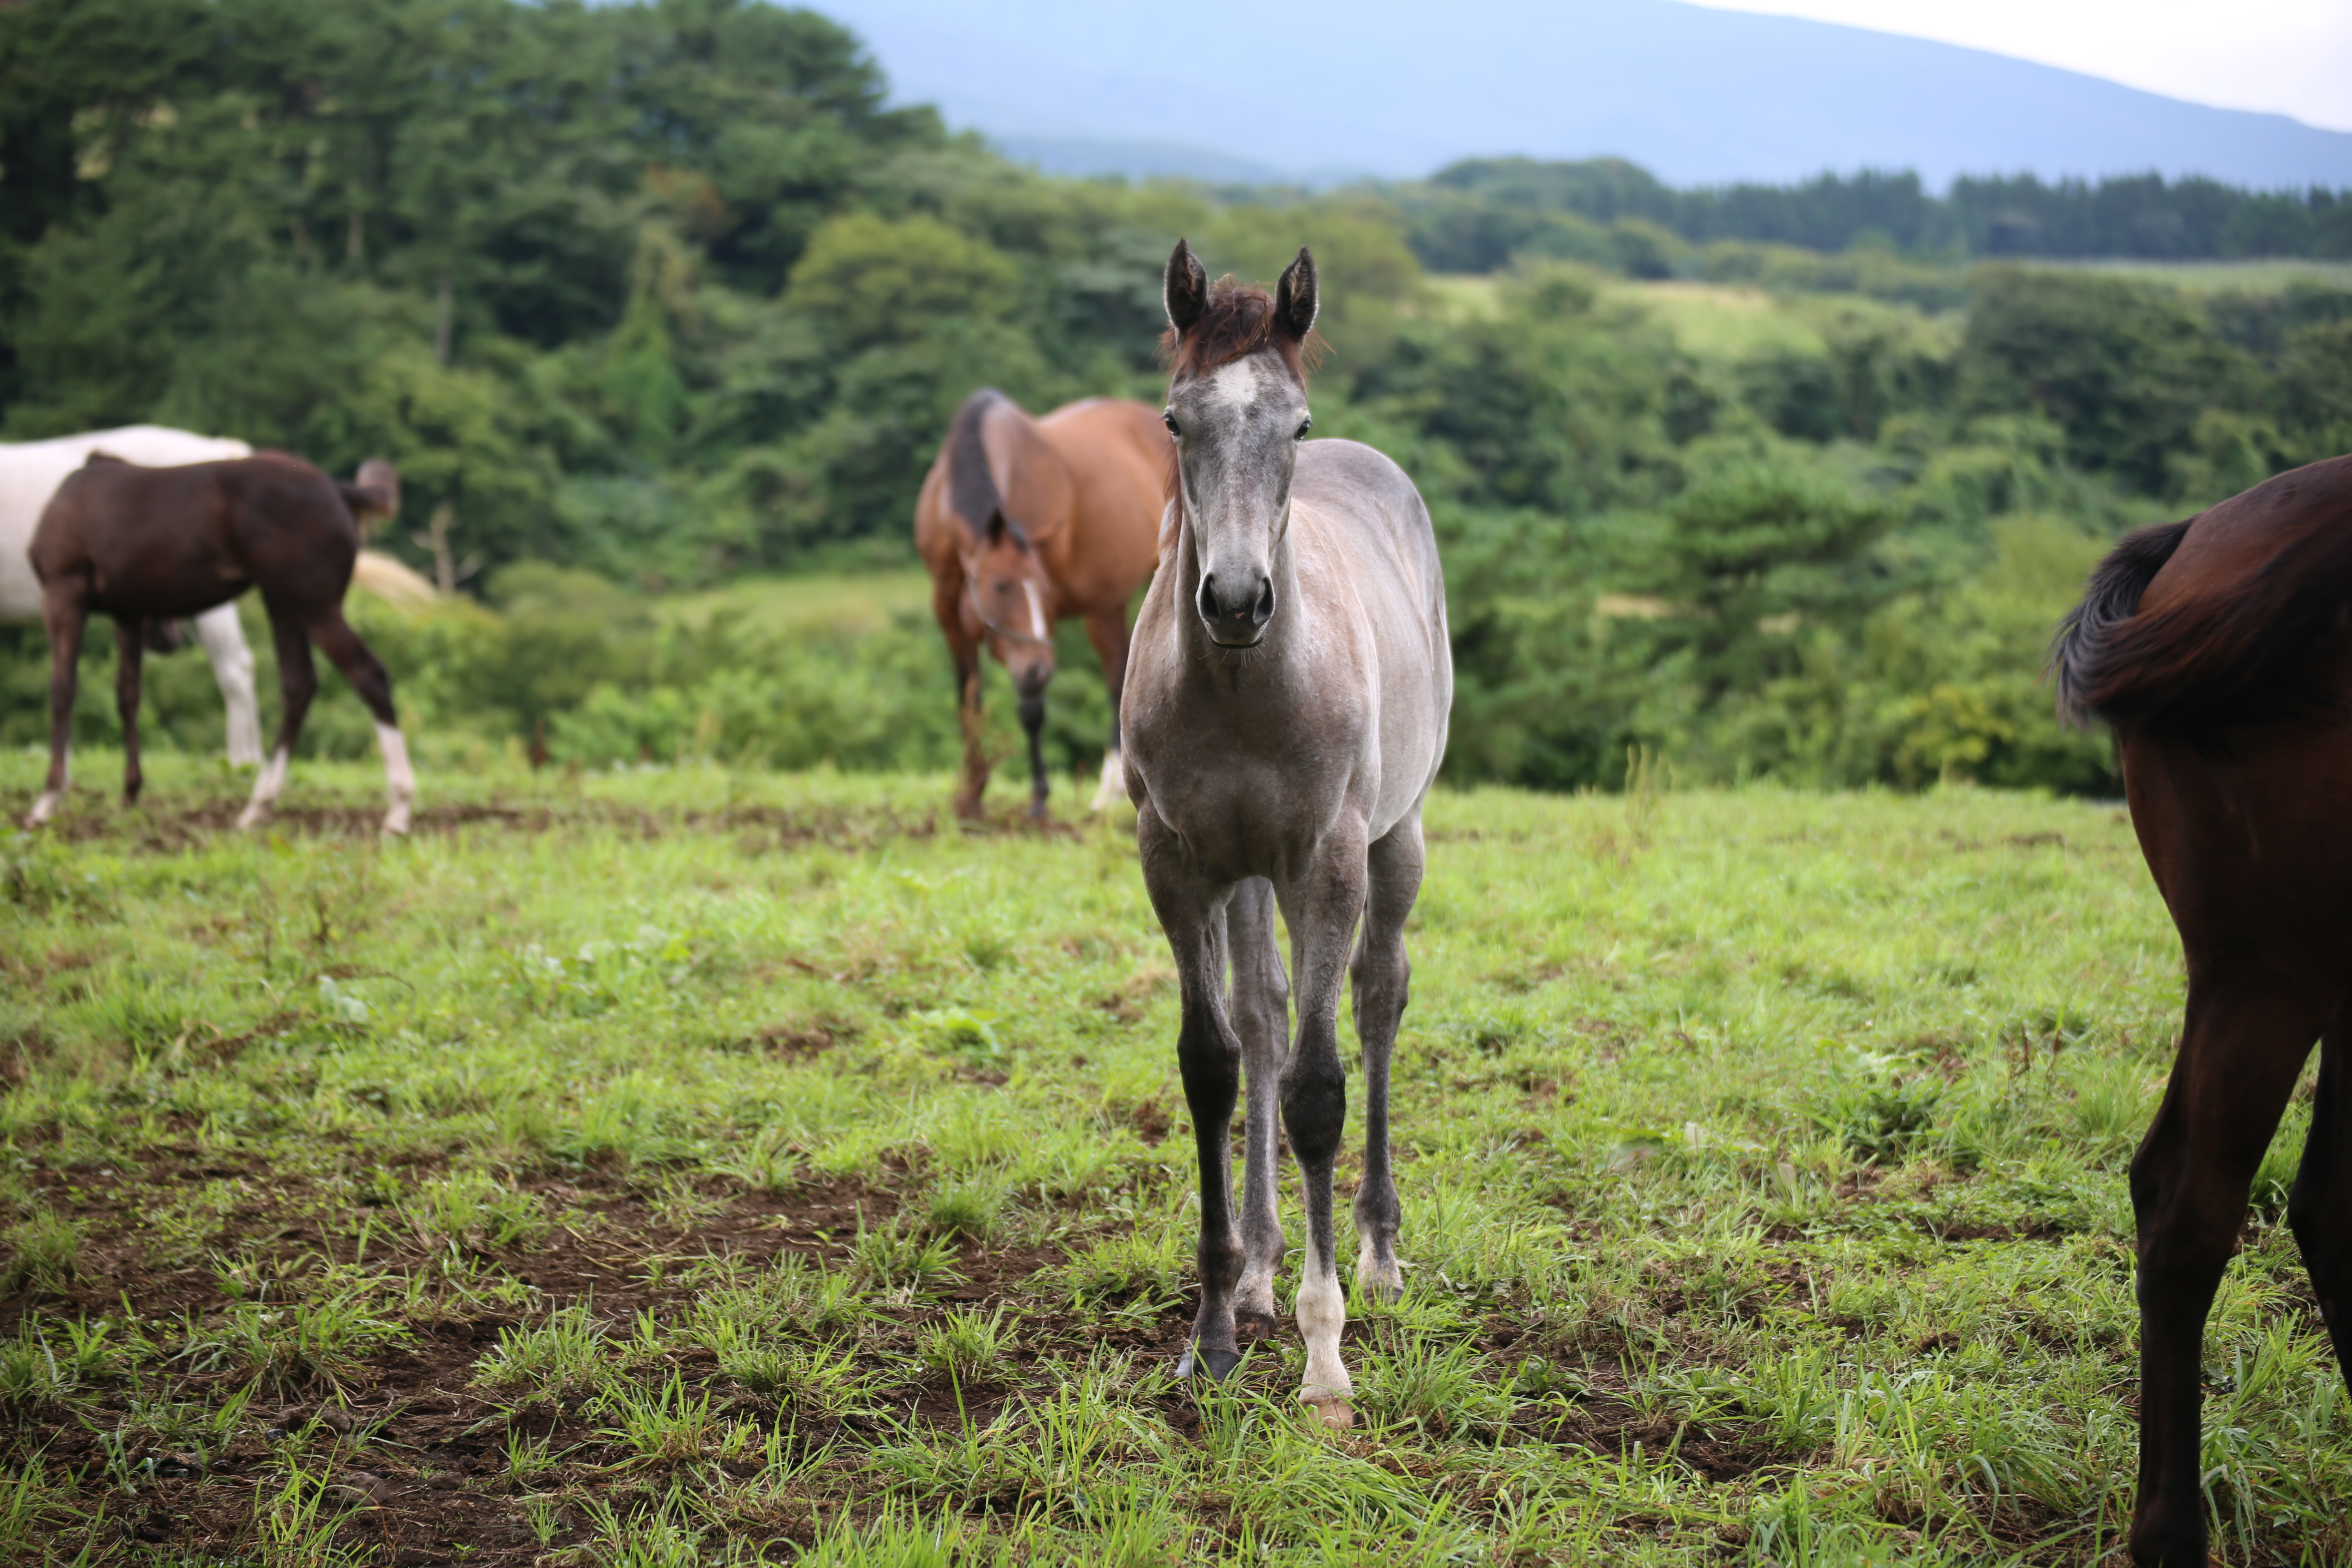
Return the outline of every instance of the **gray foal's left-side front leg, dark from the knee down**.
<path id="1" fill-rule="evenodd" d="M 1232 1335 L 1232 1291 L 1242 1279 L 1242 1239 L 1232 1229 L 1232 1103 L 1242 1086 L 1242 1041 L 1225 1020 L 1230 889 L 1211 886 L 1192 865 L 1183 839 L 1148 806 L 1136 818 L 1136 849 L 1152 912 L 1176 957 L 1176 990 L 1183 999 L 1176 1067 L 1183 1072 L 1200 1154 L 1200 1312 L 1176 1375 L 1190 1378 L 1197 1366 L 1223 1378 L 1242 1359 Z"/>

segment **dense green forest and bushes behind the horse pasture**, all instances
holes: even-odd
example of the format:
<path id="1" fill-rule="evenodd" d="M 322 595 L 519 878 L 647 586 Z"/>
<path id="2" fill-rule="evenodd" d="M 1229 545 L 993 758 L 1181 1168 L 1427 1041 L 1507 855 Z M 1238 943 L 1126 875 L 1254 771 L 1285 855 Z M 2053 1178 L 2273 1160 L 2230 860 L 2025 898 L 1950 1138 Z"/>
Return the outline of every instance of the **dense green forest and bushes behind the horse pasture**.
<path id="1" fill-rule="evenodd" d="M 428 764 L 943 764 L 920 611 L 675 607 L 903 574 L 976 386 L 1155 397 L 1176 235 L 1244 277 L 1315 249 L 1317 430 L 1404 463 L 1446 548 L 1458 783 L 2112 795 L 2039 684 L 2082 574 L 2352 449 L 2352 193 L 1616 160 L 1129 186 L 891 108 L 851 33 L 746 0 L 0 9 L 0 440 L 393 458 L 376 543 L 456 602 L 358 614 Z M 2312 261 L 2244 266 L 2277 256 Z M 1077 649 L 1065 766 L 1101 748 Z M 0 741 L 42 733 L 42 661 L 0 628 Z M 209 745 L 202 668 L 151 684 L 167 743 Z M 111 736 L 106 682 L 82 703 Z M 313 745 L 358 752 L 336 703 Z"/>

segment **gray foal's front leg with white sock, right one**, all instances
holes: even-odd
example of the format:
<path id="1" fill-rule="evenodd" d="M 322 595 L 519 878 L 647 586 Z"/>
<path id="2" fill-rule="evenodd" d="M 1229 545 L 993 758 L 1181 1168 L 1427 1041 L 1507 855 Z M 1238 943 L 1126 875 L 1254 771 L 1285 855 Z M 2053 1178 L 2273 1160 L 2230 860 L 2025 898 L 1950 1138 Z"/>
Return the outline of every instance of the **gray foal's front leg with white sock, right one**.
<path id="1" fill-rule="evenodd" d="M 1357 835 L 1362 827 L 1355 830 Z M 1331 1232 L 1331 1164 L 1348 1128 L 1348 1067 L 1338 1056 L 1338 987 L 1348 973 L 1348 945 L 1364 912 L 1364 839 L 1334 830 L 1305 877 L 1284 891 L 1282 912 L 1291 922 L 1298 957 L 1298 1044 L 1282 1067 L 1282 1124 L 1298 1154 L 1298 1185 L 1308 1211 L 1308 1255 L 1298 1274 L 1298 1333 L 1308 1342 L 1308 1371 L 1298 1399 L 1315 1406 L 1331 1427 L 1355 1422 L 1348 1403 L 1355 1385 L 1338 1356 L 1338 1333 L 1348 1324 L 1348 1295 L 1338 1284 Z"/>

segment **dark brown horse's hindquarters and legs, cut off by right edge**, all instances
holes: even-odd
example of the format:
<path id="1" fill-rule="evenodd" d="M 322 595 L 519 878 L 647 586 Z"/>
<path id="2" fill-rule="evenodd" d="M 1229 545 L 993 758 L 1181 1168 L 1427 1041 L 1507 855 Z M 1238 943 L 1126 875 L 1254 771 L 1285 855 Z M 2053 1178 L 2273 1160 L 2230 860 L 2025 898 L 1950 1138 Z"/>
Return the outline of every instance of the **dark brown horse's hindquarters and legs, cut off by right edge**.
<path id="1" fill-rule="evenodd" d="M 2131 825 L 2187 954 L 2187 1018 L 2131 1161 L 2138 1563 L 2204 1568 L 2204 1319 L 2319 1039 L 2286 1204 L 2352 1368 L 2352 456 L 2140 529 L 2058 632 L 2060 712 L 2114 726 Z M 2352 1375 L 2352 1373 L 2347 1373 Z"/>

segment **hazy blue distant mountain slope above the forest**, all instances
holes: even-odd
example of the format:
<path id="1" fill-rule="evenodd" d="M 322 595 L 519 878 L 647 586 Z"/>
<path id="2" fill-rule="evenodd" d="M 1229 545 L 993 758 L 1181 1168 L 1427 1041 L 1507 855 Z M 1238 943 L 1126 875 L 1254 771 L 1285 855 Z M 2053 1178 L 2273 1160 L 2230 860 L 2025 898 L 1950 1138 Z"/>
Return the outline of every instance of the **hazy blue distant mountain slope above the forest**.
<path id="1" fill-rule="evenodd" d="M 814 0 L 898 101 L 1056 172 L 1416 179 L 1630 158 L 1677 186 L 1820 169 L 2352 186 L 2352 134 L 2074 71 L 1675 0 Z M 1251 174 L 1256 172 L 1256 174 Z"/>

